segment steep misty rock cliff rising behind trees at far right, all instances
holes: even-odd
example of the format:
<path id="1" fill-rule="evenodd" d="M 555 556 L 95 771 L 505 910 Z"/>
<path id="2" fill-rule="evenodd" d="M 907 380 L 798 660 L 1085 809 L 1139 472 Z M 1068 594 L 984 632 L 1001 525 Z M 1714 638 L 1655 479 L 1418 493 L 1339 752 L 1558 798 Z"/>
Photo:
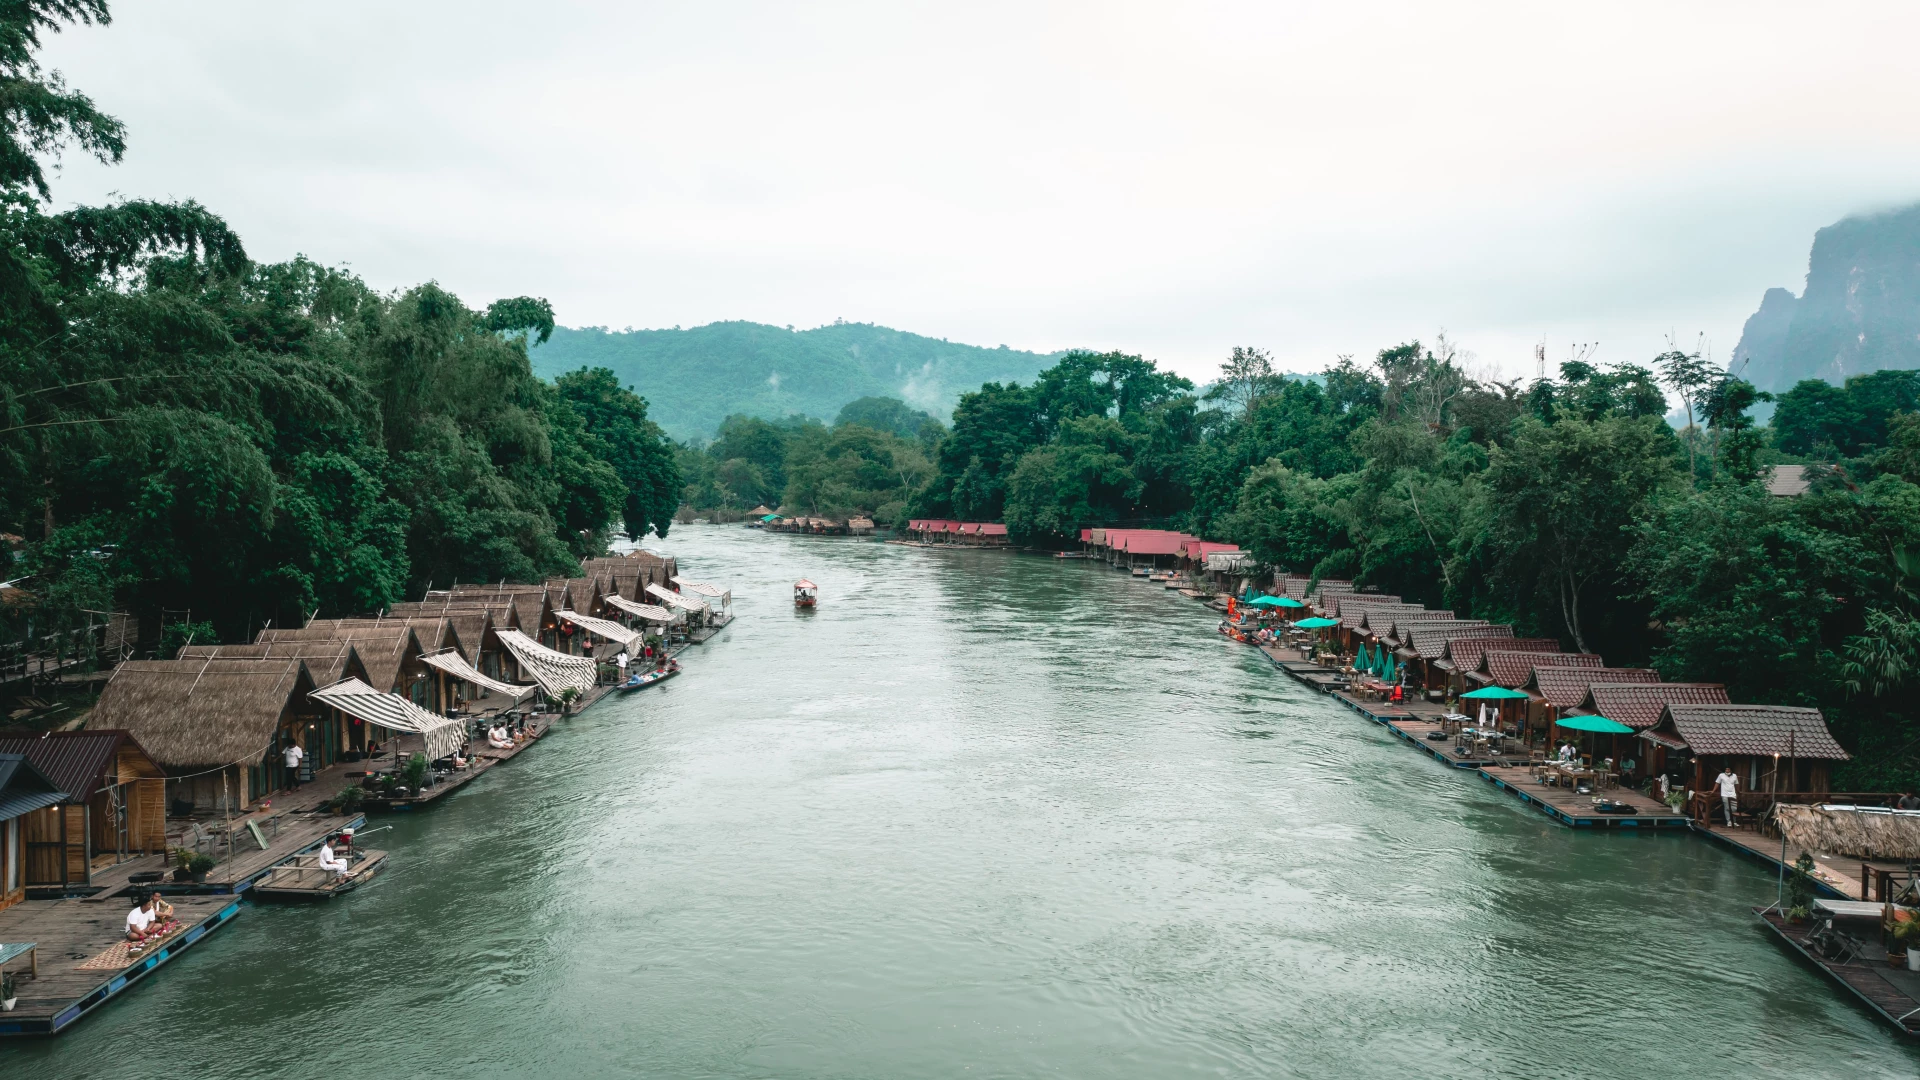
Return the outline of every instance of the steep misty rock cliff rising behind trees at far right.
<path id="1" fill-rule="evenodd" d="M 1807 290 L 1768 288 L 1741 329 L 1734 371 L 1761 390 L 1803 379 L 1920 367 L 1920 206 L 1814 233 Z"/>

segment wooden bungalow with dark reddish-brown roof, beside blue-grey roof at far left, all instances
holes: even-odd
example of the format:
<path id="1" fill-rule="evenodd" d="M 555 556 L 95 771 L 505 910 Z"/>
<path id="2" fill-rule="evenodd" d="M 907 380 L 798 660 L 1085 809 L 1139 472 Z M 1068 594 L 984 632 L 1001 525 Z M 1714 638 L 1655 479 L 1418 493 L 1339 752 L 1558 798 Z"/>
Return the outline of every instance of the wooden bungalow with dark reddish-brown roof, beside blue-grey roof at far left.
<path id="1" fill-rule="evenodd" d="M 125 730 L 0 732 L 67 798 L 19 819 L 29 888 L 92 884 L 96 859 L 167 851 L 167 780 Z"/>

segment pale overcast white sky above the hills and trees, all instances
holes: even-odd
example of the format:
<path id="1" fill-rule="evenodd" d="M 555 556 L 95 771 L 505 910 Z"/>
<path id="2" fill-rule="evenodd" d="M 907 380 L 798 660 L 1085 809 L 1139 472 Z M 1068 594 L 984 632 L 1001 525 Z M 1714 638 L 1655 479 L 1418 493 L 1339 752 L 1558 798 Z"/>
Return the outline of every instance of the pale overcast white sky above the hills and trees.
<path id="1" fill-rule="evenodd" d="M 255 259 L 1317 369 L 1446 329 L 1716 357 L 1814 229 L 1920 198 L 1920 4 L 117 0 L 46 60 L 127 121 L 61 204 Z"/>

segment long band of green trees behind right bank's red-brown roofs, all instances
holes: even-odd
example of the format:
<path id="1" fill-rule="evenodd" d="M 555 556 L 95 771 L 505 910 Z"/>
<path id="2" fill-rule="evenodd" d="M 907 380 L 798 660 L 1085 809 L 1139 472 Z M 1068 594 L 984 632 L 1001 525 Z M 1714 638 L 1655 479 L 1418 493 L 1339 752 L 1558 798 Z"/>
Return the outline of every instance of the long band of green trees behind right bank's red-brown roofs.
<path id="1" fill-rule="evenodd" d="M 691 505 L 1006 521 L 1037 546 L 1187 528 L 1736 701 L 1818 705 L 1859 755 L 1837 784 L 1916 784 L 1920 371 L 1803 380 L 1759 427 L 1768 398 L 1678 350 L 1523 384 L 1473 379 L 1444 340 L 1313 379 L 1242 348 L 1204 394 L 1075 352 L 962 394 L 950 430 L 733 417 L 682 467 Z M 1784 463 L 1807 465 L 1803 494 L 1768 494 Z"/>

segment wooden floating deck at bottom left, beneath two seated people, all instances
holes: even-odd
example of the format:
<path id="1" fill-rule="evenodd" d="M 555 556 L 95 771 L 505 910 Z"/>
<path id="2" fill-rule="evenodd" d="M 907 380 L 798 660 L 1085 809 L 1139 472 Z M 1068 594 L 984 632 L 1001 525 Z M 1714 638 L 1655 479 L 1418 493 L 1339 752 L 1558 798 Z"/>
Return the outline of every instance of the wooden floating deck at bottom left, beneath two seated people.
<path id="1" fill-rule="evenodd" d="M 0 1036 L 50 1036 L 73 1026 L 240 915 L 232 896 L 182 896 L 171 903 L 186 930 L 121 967 L 81 965 L 108 955 L 127 936 L 127 897 L 29 899 L 0 911 L 0 942 L 36 942 L 40 969 L 38 978 L 19 978 L 19 1005 L 0 1013 Z M 8 970 L 25 972 L 27 959 L 8 963 Z"/>

